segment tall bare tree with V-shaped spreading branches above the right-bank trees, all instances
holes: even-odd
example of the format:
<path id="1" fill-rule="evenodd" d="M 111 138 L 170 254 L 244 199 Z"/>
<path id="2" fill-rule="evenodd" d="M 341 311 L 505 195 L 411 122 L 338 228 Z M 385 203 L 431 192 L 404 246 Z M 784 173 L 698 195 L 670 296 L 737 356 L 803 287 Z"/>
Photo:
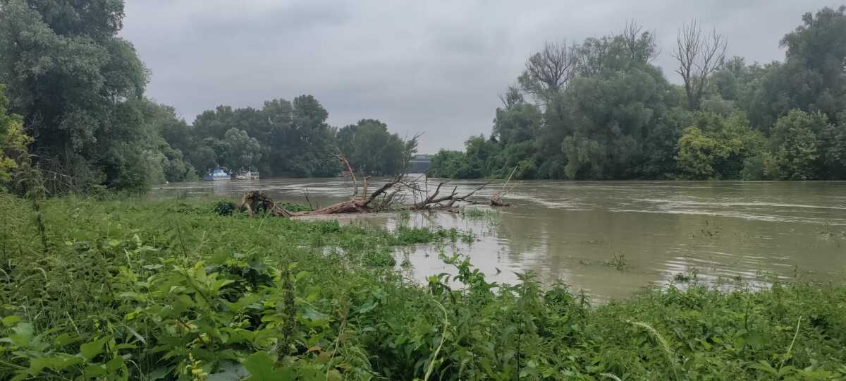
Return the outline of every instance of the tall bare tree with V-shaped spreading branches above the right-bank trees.
<path id="1" fill-rule="evenodd" d="M 699 109 L 702 93 L 705 91 L 708 77 L 722 66 L 726 58 L 726 37 L 711 30 L 703 34 L 695 20 L 678 30 L 676 50 L 673 58 L 678 61 L 676 73 L 684 80 L 684 92 L 688 98 L 688 108 Z"/>

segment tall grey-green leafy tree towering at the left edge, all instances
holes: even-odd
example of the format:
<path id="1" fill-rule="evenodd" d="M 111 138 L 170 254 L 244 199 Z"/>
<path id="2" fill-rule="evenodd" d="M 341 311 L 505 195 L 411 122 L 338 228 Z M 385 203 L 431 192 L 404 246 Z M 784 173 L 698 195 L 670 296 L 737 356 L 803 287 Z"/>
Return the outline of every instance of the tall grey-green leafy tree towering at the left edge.
<path id="1" fill-rule="evenodd" d="M 123 18 L 118 0 L 0 3 L 0 81 L 11 109 L 36 136 L 41 167 L 71 176 L 80 188 L 135 186 L 124 179 L 146 178 L 124 173 L 147 169 L 135 166 L 143 157 L 133 144 L 138 132 L 124 124 L 147 71 L 118 36 Z"/>

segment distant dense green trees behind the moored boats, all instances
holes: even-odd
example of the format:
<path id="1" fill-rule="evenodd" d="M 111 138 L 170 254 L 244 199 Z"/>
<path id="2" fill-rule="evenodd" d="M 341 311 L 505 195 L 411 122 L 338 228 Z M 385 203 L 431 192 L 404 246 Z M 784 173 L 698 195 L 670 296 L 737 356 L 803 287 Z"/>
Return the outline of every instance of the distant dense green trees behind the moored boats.
<path id="1" fill-rule="evenodd" d="M 343 168 L 333 157 L 349 158 L 364 174 L 399 170 L 404 141 L 376 119 L 341 129 L 327 124 L 329 113 L 315 97 L 274 99 L 261 109 L 219 106 L 165 133 L 171 144 L 189 152 L 195 168 L 216 164 L 253 167 L 273 175 L 333 176 Z"/>

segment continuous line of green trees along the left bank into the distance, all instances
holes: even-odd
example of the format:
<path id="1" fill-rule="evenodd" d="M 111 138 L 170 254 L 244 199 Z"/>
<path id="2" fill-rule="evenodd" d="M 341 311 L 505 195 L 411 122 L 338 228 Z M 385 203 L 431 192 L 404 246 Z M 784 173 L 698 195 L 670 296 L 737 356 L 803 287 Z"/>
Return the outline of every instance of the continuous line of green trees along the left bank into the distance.
<path id="1" fill-rule="evenodd" d="M 311 96 L 187 124 L 145 96 L 150 73 L 118 36 L 123 19 L 122 0 L 0 0 L 0 187 L 35 175 L 52 193 L 143 191 L 218 165 L 329 176 L 338 150 L 365 174 L 398 170 L 398 135 L 375 119 L 334 128 Z"/>

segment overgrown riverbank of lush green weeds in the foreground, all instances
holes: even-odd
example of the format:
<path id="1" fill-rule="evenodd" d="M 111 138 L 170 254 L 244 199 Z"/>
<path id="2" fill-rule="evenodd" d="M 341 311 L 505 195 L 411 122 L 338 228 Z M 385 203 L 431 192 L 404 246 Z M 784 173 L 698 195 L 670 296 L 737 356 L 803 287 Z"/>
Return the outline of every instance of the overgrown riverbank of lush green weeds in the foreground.
<path id="1" fill-rule="evenodd" d="M 840 284 L 692 284 L 591 306 L 530 273 L 489 282 L 452 256 L 472 239 L 461 230 L 212 209 L 63 198 L 36 212 L 0 196 L 0 378 L 846 377 Z M 394 248 L 424 243 L 453 279 L 396 270 Z"/>

